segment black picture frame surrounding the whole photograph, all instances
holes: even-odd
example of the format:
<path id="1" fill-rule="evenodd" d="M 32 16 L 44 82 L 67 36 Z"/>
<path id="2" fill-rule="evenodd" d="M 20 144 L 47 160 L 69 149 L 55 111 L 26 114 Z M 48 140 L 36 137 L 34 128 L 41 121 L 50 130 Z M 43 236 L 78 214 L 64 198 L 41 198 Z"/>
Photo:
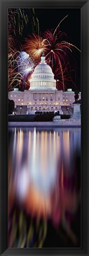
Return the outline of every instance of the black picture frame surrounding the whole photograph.
<path id="1" fill-rule="evenodd" d="M 89 0 L 1 0 L 0 255 L 89 255 Z M 81 248 L 8 248 L 8 8 L 81 8 Z M 76 17 L 75 17 L 76 18 Z"/>

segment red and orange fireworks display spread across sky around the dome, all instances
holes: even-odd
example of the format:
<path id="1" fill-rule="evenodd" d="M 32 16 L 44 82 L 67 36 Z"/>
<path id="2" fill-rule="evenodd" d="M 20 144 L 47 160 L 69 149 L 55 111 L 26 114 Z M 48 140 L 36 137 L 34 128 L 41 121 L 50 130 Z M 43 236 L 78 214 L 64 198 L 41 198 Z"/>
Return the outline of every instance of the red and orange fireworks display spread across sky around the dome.
<path id="1" fill-rule="evenodd" d="M 28 25 L 29 15 L 32 15 L 32 32 L 35 32 L 36 28 L 37 34 L 32 33 L 32 35 L 28 35 L 21 46 L 19 41 L 16 40 L 16 34 L 19 33 L 22 35 L 25 25 Z M 18 22 L 16 22 L 15 16 L 18 17 Z M 35 67 L 40 62 L 42 51 L 44 51 L 46 62 L 50 67 L 52 67 L 54 78 L 57 81 L 57 89 L 62 90 L 67 88 L 69 81 L 76 88 L 76 60 L 74 59 L 73 53 L 75 50 L 80 52 L 78 47 L 69 42 L 67 34 L 60 30 L 62 22 L 65 22 L 67 18 L 69 18 L 68 15 L 59 22 L 55 30 L 52 29 L 44 31 L 42 35 L 39 35 L 39 21 L 35 15 L 34 9 L 32 9 L 32 11 L 31 9 L 9 9 L 8 18 L 9 58 L 11 58 L 13 54 L 16 55 L 16 51 L 19 49 L 20 51 L 24 50 L 29 54 L 29 57 L 33 61 Z M 23 65 L 24 64 L 25 63 L 23 63 Z M 20 74 L 20 76 L 22 77 L 22 74 Z M 19 72 L 18 74 L 15 73 L 15 79 L 13 77 L 14 69 L 9 69 L 9 84 L 13 84 L 14 87 L 13 80 L 15 80 L 17 81 L 15 86 L 18 86 L 19 78 L 16 80 L 16 77 L 19 77 Z M 28 84 L 28 76 L 26 77 L 27 79 L 25 79 L 25 82 Z M 24 80 L 23 77 L 21 80 Z M 9 87 L 11 88 L 11 86 Z"/>

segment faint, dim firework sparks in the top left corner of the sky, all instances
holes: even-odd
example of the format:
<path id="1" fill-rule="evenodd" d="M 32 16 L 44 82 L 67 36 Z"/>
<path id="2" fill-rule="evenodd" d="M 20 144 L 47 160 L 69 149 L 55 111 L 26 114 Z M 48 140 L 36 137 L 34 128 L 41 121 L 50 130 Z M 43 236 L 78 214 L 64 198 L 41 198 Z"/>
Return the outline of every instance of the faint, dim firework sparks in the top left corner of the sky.
<path id="1" fill-rule="evenodd" d="M 32 23 L 32 32 L 39 34 L 39 20 L 36 17 L 34 8 L 9 8 L 8 10 L 8 30 L 16 36 L 22 36 L 24 28 Z"/>

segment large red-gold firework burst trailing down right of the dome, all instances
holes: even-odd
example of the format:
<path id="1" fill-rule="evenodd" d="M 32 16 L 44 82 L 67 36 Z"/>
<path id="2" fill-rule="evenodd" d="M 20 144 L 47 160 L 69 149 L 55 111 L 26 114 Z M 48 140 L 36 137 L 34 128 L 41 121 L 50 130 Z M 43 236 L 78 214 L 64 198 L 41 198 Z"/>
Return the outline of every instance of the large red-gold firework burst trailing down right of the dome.
<path id="1" fill-rule="evenodd" d="M 62 86 L 61 84 L 60 86 L 64 90 L 66 88 L 66 82 L 71 81 L 74 85 L 71 73 L 74 71 L 76 74 L 76 70 L 74 68 L 71 69 L 71 62 L 76 66 L 73 57 L 73 48 L 79 49 L 67 41 L 66 33 L 60 31 L 60 23 L 54 32 L 53 30 L 47 30 L 44 33 L 44 38 L 49 41 L 46 49 L 47 64 L 52 67 L 55 78 L 60 76 L 59 81 L 62 83 Z"/>

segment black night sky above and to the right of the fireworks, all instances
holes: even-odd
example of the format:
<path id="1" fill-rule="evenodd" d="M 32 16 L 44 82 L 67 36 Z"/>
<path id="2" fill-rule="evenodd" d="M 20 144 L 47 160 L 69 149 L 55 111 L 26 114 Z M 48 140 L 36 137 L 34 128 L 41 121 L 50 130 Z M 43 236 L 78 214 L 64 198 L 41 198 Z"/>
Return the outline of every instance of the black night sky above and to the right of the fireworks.
<path id="1" fill-rule="evenodd" d="M 25 11 L 28 14 L 28 9 Z M 47 29 L 55 30 L 59 22 L 69 15 L 63 22 L 61 22 L 60 30 L 67 34 L 67 41 L 74 44 L 81 50 L 81 8 L 36 8 L 35 18 L 39 20 L 40 35 Z M 32 9 L 30 9 L 30 15 L 28 15 L 28 25 L 23 28 L 22 36 L 16 35 L 17 39 L 23 45 L 26 38 L 33 32 L 32 25 Z M 18 21 L 16 21 L 18 25 Z M 36 32 L 35 32 L 36 33 Z M 76 60 L 77 80 L 76 86 L 78 90 L 81 90 L 81 53 L 78 50 L 73 51 L 74 59 Z M 72 86 L 71 86 L 72 88 Z M 74 89 L 74 88 L 72 88 Z"/>

